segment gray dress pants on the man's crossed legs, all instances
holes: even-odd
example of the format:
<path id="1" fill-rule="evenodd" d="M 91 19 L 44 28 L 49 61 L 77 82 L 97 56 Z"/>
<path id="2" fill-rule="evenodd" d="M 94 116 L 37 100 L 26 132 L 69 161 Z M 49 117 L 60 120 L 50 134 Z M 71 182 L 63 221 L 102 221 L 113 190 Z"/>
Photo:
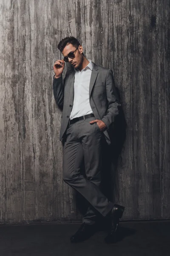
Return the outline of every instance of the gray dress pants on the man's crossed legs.
<path id="1" fill-rule="evenodd" d="M 83 195 L 90 206 L 106 216 L 113 208 L 113 203 L 100 190 L 102 131 L 97 123 L 90 124 L 92 120 L 95 117 L 68 125 L 63 150 L 63 180 Z M 80 170 L 83 159 L 86 177 Z M 93 207 L 88 207 L 83 216 L 86 224 L 95 223 L 96 213 Z"/>

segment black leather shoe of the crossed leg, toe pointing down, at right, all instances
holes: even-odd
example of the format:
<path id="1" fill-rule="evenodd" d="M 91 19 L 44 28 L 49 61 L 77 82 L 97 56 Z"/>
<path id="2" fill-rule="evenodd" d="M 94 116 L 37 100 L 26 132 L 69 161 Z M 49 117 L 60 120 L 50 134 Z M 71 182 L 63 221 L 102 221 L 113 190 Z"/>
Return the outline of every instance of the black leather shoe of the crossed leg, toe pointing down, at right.
<path id="1" fill-rule="evenodd" d="M 108 236 L 105 238 L 105 242 L 107 244 L 116 242 L 116 230 L 119 224 L 119 218 L 122 218 L 125 207 L 114 204 L 113 209 L 111 211 L 111 227 L 108 233 Z"/>

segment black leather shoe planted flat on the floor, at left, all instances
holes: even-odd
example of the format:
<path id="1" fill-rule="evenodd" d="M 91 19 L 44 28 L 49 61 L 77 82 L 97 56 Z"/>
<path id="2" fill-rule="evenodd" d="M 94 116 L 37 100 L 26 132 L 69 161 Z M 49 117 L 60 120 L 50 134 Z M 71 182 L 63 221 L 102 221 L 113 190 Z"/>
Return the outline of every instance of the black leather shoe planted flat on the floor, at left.
<path id="1" fill-rule="evenodd" d="M 92 236 L 96 231 L 96 225 L 88 225 L 83 222 L 77 232 L 70 238 L 71 243 L 84 241 Z"/>

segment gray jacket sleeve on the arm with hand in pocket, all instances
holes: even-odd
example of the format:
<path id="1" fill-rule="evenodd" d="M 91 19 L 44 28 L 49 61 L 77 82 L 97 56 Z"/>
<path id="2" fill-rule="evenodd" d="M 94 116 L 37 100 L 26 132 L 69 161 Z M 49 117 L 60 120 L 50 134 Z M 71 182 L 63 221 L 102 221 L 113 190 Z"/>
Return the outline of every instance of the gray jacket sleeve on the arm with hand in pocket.
<path id="1" fill-rule="evenodd" d="M 107 114 L 103 116 L 102 121 L 109 127 L 109 125 L 114 122 L 115 116 L 119 114 L 119 107 L 121 106 L 116 93 L 113 72 L 111 69 L 108 70 L 106 76 L 106 95 L 108 99 L 108 111 Z"/>

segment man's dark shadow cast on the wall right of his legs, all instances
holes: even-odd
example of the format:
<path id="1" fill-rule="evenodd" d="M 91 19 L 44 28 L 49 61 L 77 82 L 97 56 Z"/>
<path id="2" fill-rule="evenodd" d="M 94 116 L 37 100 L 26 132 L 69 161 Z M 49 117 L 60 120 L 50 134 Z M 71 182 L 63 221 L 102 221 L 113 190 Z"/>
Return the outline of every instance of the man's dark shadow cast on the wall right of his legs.
<path id="1" fill-rule="evenodd" d="M 116 88 L 120 98 L 119 90 Z M 121 152 L 126 139 L 126 120 L 121 108 L 119 115 L 115 117 L 115 121 L 109 133 L 111 145 L 107 145 L 103 141 L 102 153 L 102 191 L 107 196 L 109 201 L 119 203 L 119 173 L 118 163 L 122 162 Z"/>

